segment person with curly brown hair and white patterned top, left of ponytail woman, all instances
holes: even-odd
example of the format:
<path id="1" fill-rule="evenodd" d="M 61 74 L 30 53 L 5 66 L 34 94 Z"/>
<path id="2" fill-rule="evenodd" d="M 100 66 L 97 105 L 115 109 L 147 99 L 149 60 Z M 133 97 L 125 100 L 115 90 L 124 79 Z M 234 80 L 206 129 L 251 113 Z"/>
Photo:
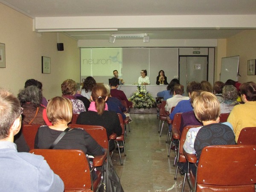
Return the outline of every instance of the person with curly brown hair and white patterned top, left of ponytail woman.
<path id="1" fill-rule="evenodd" d="M 62 96 L 70 99 L 73 105 L 73 114 L 79 114 L 83 111 L 86 111 L 84 103 L 76 99 L 75 94 L 76 94 L 76 81 L 72 79 L 67 79 L 63 81 L 61 84 L 61 91 L 62 91 Z"/>

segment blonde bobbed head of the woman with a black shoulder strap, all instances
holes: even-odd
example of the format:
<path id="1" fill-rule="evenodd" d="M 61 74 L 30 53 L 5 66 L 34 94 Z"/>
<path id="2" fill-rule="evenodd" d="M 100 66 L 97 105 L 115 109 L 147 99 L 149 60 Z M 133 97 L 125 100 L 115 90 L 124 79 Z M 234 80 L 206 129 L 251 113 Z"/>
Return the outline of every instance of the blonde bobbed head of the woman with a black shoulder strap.
<path id="1" fill-rule="evenodd" d="M 47 117 L 52 125 L 58 122 L 71 122 L 73 107 L 70 99 L 64 97 L 53 97 L 47 105 Z"/>

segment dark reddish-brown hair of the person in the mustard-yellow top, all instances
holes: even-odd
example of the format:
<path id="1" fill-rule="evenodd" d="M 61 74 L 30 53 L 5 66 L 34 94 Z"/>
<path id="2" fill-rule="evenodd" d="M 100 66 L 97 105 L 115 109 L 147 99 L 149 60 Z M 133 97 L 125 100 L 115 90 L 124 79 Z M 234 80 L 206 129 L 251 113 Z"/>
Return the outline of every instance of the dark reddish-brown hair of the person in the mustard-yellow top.
<path id="1" fill-rule="evenodd" d="M 248 101 L 256 101 L 256 83 L 253 81 L 243 83 L 239 87 L 240 94 L 244 94 Z"/>

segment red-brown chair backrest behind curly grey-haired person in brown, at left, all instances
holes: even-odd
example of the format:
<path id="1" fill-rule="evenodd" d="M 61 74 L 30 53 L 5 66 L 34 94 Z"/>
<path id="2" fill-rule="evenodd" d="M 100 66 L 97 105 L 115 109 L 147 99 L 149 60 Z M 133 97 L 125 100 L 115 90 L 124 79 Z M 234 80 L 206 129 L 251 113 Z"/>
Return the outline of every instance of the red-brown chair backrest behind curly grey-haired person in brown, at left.
<path id="1" fill-rule="evenodd" d="M 35 146 L 35 135 L 38 131 L 38 128 L 42 126 L 39 124 L 30 124 L 30 125 L 26 125 L 23 124 L 21 127 L 21 132 L 24 136 L 24 139 L 26 141 L 26 143 L 29 146 L 29 149 L 33 149 Z"/>

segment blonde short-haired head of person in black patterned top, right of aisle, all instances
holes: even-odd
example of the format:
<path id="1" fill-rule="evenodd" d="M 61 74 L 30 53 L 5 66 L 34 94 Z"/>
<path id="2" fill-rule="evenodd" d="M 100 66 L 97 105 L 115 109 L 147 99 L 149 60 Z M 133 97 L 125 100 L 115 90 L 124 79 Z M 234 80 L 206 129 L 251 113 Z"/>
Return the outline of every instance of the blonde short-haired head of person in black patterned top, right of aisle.
<path id="1" fill-rule="evenodd" d="M 217 97 L 210 92 L 203 91 L 193 101 L 194 113 L 199 121 L 215 121 L 221 113 Z"/>

